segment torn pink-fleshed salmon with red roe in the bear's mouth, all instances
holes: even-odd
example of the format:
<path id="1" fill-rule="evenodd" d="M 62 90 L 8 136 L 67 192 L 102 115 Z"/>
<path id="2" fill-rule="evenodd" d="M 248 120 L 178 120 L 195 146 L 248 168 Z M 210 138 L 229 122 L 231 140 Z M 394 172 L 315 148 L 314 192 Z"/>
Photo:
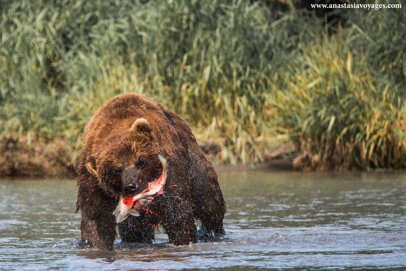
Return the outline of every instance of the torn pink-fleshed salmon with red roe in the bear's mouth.
<path id="1" fill-rule="evenodd" d="M 117 223 L 124 221 L 128 215 L 138 217 L 140 215 L 140 212 L 136 210 L 139 209 L 138 202 L 149 200 L 152 195 L 164 193 L 163 187 L 166 182 L 166 159 L 160 154 L 158 154 L 158 158 L 163 167 L 161 176 L 155 181 L 149 182 L 148 188 L 141 193 L 133 197 L 120 197 L 119 205 L 117 205 L 117 208 L 113 212 L 113 215 L 116 216 Z"/>

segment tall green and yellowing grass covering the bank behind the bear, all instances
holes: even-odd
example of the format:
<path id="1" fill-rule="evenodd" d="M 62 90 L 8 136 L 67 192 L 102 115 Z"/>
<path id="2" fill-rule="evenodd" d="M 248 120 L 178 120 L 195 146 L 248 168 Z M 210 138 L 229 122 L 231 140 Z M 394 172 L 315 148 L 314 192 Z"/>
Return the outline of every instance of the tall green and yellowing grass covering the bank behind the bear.
<path id="1" fill-rule="evenodd" d="M 296 2 L 1 5 L 3 138 L 63 137 L 75 160 L 97 108 L 136 92 L 220 143 L 223 161 L 262 162 L 292 141 L 300 167 L 405 167 L 405 8 L 326 25 Z"/>

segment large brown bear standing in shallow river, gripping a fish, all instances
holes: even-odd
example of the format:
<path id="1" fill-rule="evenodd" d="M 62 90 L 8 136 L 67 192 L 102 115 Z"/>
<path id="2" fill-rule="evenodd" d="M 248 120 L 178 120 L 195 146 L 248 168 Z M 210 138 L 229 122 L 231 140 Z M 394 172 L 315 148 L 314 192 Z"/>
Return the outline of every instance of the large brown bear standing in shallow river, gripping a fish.
<path id="1" fill-rule="evenodd" d="M 180 117 L 129 93 L 99 109 L 84 134 L 76 203 L 76 212 L 82 212 L 82 247 L 113 248 L 112 212 L 120 197 L 137 195 L 161 175 L 158 154 L 167 160 L 164 193 L 147 201 L 140 216 L 118 223 L 121 240 L 152 243 L 158 225 L 174 245 L 225 235 L 226 204 L 217 174 Z M 202 223 L 198 232 L 195 219 Z"/>

